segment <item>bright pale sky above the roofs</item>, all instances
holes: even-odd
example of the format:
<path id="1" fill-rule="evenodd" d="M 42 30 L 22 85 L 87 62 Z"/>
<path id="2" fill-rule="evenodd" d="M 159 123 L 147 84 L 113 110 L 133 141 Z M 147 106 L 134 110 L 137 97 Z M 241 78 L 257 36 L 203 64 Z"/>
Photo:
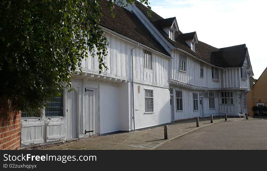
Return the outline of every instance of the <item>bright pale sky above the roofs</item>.
<path id="1" fill-rule="evenodd" d="M 267 1 L 148 0 L 163 18 L 176 17 L 183 33 L 196 31 L 198 40 L 216 48 L 246 44 L 254 78 L 267 67 Z"/>

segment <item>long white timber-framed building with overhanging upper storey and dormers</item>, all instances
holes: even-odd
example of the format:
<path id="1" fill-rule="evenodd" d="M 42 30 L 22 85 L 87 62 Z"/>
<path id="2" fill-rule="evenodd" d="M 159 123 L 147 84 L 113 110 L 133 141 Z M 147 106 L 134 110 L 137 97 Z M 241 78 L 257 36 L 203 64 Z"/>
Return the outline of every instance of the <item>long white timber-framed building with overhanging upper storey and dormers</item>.
<path id="1" fill-rule="evenodd" d="M 73 91 L 51 100 L 40 117 L 22 113 L 22 148 L 247 112 L 253 71 L 245 44 L 218 49 L 196 32 L 183 34 L 175 17 L 148 17 L 139 2 L 115 5 L 115 18 L 101 2 L 108 70 L 99 74 L 97 59 L 84 59 Z"/>

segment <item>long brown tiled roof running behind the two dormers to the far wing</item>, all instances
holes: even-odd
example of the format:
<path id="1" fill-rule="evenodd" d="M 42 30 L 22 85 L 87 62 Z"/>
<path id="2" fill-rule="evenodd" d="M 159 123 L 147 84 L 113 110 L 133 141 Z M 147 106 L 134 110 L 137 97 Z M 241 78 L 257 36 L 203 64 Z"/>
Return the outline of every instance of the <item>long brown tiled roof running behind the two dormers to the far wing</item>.
<path id="1" fill-rule="evenodd" d="M 191 50 L 191 47 L 185 43 L 184 40 L 190 40 L 195 32 L 183 34 L 180 30 L 175 32 L 174 40 L 171 40 L 168 35 L 159 27 L 155 21 L 162 20 L 163 18 L 155 12 L 151 12 L 151 17 L 147 15 L 147 7 L 140 2 L 135 2 L 140 11 L 146 15 L 150 22 L 161 32 L 161 34 L 176 48 L 179 48 L 189 54 L 199 58 L 207 63 L 216 65 L 218 67 L 242 67 L 245 60 L 245 52 L 247 48 L 245 44 L 227 47 L 227 48 L 215 48 L 209 44 L 198 41 L 195 44 L 195 51 Z M 215 52 L 218 51 L 218 52 Z M 212 54 L 212 55 L 211 55 Z"/>

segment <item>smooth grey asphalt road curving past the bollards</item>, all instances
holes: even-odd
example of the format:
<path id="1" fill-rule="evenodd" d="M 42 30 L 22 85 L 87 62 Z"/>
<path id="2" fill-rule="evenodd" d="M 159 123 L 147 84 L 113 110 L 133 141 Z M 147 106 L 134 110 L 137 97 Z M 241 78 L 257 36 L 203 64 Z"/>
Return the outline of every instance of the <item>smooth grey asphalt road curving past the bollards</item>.
<path id="1" fill-rule="evenodd" d="M 157 150 L 267 150 L 267 120 L 216 123 L 171 140 Z"/>

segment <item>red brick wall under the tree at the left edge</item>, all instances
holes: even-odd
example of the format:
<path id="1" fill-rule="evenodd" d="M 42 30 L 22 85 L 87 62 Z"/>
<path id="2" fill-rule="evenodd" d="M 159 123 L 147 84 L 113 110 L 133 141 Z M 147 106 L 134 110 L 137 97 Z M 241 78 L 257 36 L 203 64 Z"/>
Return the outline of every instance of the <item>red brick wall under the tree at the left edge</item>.
<path id="1" fill-rule="evenodd" d="M 2 105 L 1 105 L 2 106 Z M 18 150 L 20 147 L 21 111 L 0 108 L 0 150 Z"/>

